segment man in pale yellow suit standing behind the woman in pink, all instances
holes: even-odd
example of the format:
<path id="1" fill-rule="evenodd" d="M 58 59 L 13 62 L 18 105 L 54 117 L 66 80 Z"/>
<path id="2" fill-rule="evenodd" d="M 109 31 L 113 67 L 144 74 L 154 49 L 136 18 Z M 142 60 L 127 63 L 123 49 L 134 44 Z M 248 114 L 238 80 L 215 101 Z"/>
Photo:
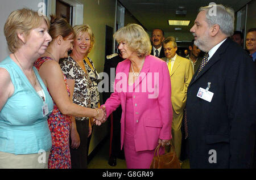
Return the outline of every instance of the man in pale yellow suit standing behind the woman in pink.
<path id="1" fill-rule="evenodd" d="M 180 158 L 181 149 L 181 122 L 183 109 L 187 99 L 187 88 L 193 76 L 192 63 L 176 54 L 177 44 L 174 37 L 168 37 L 163 41 L 163 49 L 171 78 L 171 100 L 173 110 L 172 120 L 172 144 Z"/>

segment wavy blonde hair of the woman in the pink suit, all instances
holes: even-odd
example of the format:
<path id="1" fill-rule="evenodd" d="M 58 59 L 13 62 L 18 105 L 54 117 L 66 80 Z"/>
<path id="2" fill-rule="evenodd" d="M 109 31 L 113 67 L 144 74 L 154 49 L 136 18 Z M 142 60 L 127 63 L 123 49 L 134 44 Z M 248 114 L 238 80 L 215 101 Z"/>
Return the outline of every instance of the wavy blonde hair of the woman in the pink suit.
<path id="1" fill-rule="evenodd" d="M 138 57 L 145 57 L 151 53 L 152 45 L 148 33 L 141 25 L 128 24 L 114 33 L 117 42 L 124 41 L 129 48 L 137 53 Z"/>

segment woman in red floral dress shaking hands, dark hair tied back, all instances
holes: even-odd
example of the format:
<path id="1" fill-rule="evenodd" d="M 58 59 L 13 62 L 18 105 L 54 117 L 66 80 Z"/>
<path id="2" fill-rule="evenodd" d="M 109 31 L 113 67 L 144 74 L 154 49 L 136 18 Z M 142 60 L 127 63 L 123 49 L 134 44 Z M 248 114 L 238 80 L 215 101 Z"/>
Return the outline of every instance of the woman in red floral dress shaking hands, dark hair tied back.
<path id="1" fill-rule="evenodd" d="M 74 82 L 67 82 L 59 65 L 59 59 L 68 57 L 68 51 L 72 49 L 75 34 L 71 25 L 65 19 L 51 16 L 49 35 L 52 37 L 52 42 L 46 53 L 35 63 L 54 102 L 53 112 L 48 118 L 52 135 L 48 165 L 49 168 L 71 168 L 69 132 L 71 131 L 72 140 L 77 142 L 75 147 L 79 145 L 79 136 L 75 121 L 71 125 L 70 115 L 101 119 L 104 113 L 101 109 L 85 108 L 72 102 Z"/>

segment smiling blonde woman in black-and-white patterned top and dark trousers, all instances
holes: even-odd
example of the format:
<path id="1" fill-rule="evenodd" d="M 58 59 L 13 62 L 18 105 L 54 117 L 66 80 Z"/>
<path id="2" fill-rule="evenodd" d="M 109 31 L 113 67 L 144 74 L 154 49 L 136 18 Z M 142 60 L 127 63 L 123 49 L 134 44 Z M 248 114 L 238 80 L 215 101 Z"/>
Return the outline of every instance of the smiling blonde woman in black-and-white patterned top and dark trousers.
<path id="1" fill-rule="evenodd" d="M 92 59 L 88 57 L 95 43 L 94 35 L 88 24 L 76 25 L 73 29 L 76 37 L 72 53 L 60 62 L 60 66 L 67 79 L 75 80 L 73 102 L 88 108 L 97 108 L 100 103 L 97 86 L 99 75 Z M 92 133 L 90 126 L 89 117 L 76 117 L 80 147 L 71 149 L 72 168 L 87 167 L 88 136 Z"/>

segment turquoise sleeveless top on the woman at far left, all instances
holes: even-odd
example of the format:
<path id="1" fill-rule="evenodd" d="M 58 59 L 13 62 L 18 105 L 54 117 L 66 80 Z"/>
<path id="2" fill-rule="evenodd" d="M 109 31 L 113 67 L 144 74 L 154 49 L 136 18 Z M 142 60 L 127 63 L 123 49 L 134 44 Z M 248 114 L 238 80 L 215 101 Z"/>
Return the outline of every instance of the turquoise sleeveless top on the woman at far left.
<path id="1" fill-rule="evenodd" d="M 45 104 L 49 109 L 46 116 L 43 116 L 42 98 L 10 56 L 0 62 L 0 67 L 9 72 L 14 85 L 13 96 L 0 111 L 0 151 L 16 155 L 39 153 L 41 149 L 49 151 L 52 140 L 47 115 L 52 112 L 53 101 L 38 71 L 33 67 L 46 95 Z"/>

